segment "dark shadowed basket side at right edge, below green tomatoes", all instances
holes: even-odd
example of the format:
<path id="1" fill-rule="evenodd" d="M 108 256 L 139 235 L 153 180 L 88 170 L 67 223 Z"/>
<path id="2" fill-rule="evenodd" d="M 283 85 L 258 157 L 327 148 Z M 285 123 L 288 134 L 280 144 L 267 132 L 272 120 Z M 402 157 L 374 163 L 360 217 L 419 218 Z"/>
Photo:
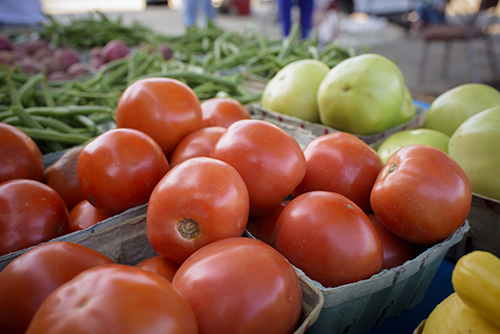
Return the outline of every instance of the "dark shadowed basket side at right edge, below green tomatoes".
<path id="1" fill-rule="evenodd" d="M 467 220 L 469 231 L 450 248 L 446 256 L 458 261 L 467 253 L 482 250 L 500 257 L 500 201 L 473 194 Z"/>

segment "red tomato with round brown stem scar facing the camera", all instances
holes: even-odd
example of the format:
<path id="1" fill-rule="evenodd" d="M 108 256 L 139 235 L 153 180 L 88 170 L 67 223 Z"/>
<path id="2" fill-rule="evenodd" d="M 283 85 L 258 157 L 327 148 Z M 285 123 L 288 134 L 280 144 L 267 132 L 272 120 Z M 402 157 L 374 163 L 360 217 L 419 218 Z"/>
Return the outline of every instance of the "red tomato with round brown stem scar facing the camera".
<path id="1" fill-rule="evenodd" d="M 249 205 L 245 182 L 233 167 L 191 158 L 172 168 L 151 194 L 146 234 L 159 255 L 181 264 L 210 242 L 241 236 Z"/>

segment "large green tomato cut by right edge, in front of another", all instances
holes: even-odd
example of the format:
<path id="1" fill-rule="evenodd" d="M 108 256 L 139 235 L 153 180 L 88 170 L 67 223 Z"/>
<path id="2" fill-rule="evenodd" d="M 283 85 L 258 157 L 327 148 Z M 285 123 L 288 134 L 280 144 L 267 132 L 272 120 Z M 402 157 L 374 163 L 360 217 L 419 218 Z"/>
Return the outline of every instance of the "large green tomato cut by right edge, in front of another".
<path id="1" fill-rule="evenodd" d="M 467 174 L 472 192 L 500 200 L 500 106 L 463 122 L 448 153 Z"/>

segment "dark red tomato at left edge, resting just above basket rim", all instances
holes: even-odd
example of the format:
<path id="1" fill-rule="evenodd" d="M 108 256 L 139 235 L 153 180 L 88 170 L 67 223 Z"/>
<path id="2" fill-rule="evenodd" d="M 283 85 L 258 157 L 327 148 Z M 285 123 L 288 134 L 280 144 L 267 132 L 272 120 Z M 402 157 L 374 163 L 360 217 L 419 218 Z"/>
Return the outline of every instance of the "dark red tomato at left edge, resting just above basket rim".
<path id="1" fill-rule="evenodd" d="M 0 256 L 68 231 L 69 212 L 54 189 L 35 180 L 0 184 Z"/>

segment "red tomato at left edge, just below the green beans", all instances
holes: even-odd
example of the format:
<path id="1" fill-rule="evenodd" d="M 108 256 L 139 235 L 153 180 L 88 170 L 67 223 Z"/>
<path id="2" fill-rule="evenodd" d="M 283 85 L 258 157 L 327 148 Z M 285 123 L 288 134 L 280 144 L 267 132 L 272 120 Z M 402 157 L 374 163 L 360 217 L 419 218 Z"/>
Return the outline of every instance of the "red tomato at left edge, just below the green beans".
<path id="1" fill-rule="evenodd" d="M 36 143 L 12 125 L 0 122 L 0 183 L 13 179 L 42 181 L 43 156 Z"/>

